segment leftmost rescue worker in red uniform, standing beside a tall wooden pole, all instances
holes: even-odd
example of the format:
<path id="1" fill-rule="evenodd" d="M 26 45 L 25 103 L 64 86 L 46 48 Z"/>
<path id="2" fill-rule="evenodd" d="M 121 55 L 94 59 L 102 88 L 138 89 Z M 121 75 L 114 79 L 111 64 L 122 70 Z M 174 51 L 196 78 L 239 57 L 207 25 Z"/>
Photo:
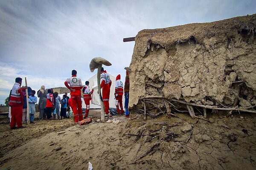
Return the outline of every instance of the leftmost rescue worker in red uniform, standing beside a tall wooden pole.
<path id="1" fill-rule="evenodd" d="M 23 107 L 23 93 L 25 92 L 26 88 L 20 88 L 22 83 L 22 78 L 17 77 L 15 79 L 15 84 L 12 87 L 9 106 L 11 106 L 11 123 L 10 128 L 24 128 L 22 126 L 22 107 Z M 17 123 L 17 127 L 16 126 Z"/>

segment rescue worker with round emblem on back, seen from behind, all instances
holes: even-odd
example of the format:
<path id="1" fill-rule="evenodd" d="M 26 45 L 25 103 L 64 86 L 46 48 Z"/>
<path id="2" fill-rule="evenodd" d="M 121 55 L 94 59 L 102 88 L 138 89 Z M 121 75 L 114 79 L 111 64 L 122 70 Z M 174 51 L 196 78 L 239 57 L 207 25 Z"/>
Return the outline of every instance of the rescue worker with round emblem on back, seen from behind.
<path id="1" fill-rule="evenodd" d="M 76 70 L 72 70 L 72 77 L 68 78 L 64 84 L 68 89 L 70 89 L 70 99 L 72 100 L 72 105 L 70 105 L 70 107 L 73 110 L 75 123 L 78 123 L 83 120 L 81 100 L 81 89 L 83 88 L 83 85 L 81 79 L 76 77 L 76 74 Z"/>

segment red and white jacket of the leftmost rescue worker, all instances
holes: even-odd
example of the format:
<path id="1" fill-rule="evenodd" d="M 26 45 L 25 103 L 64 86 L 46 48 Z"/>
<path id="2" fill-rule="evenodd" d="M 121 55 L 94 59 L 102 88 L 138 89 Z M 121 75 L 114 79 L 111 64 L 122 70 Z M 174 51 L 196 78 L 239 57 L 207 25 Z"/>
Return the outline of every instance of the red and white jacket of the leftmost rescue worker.
<path id="1" fill-rule="evenodd" d="M 9 106 L 23 105 L 23 92 L 25 90 L 25 88 L 20 88 L 19 83 L 15 82 L 12 87 Z"/>

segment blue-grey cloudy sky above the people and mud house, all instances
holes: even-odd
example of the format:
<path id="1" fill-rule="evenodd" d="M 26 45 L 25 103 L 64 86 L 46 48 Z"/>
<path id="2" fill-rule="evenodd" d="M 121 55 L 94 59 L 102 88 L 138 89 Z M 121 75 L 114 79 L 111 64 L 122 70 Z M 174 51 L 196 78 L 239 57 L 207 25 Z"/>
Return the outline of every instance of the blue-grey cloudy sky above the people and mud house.
<path id="1" fill-rule="evenodd" d="M 138 31 L 205 23 L 256 12 L 255 0 L 0 0 L 0 104 L 15 77 L 34 89 L 64 87 L 76 69 L 84 82 L 93 57 L 125 77 Z M 25 82 L 23 81 L 23 84 Z"/>

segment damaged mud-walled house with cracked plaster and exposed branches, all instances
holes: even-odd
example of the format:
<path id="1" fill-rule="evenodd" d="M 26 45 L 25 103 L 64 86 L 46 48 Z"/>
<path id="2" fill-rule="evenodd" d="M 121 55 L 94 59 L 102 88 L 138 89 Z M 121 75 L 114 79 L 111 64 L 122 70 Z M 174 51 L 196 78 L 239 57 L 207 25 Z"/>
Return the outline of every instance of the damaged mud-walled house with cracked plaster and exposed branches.
<path id="1" fill-rule="evenodd" d="M 129 68 L 129 108 L 139 113 L 256 113 L 256 14 L 142 30 Z"/>

